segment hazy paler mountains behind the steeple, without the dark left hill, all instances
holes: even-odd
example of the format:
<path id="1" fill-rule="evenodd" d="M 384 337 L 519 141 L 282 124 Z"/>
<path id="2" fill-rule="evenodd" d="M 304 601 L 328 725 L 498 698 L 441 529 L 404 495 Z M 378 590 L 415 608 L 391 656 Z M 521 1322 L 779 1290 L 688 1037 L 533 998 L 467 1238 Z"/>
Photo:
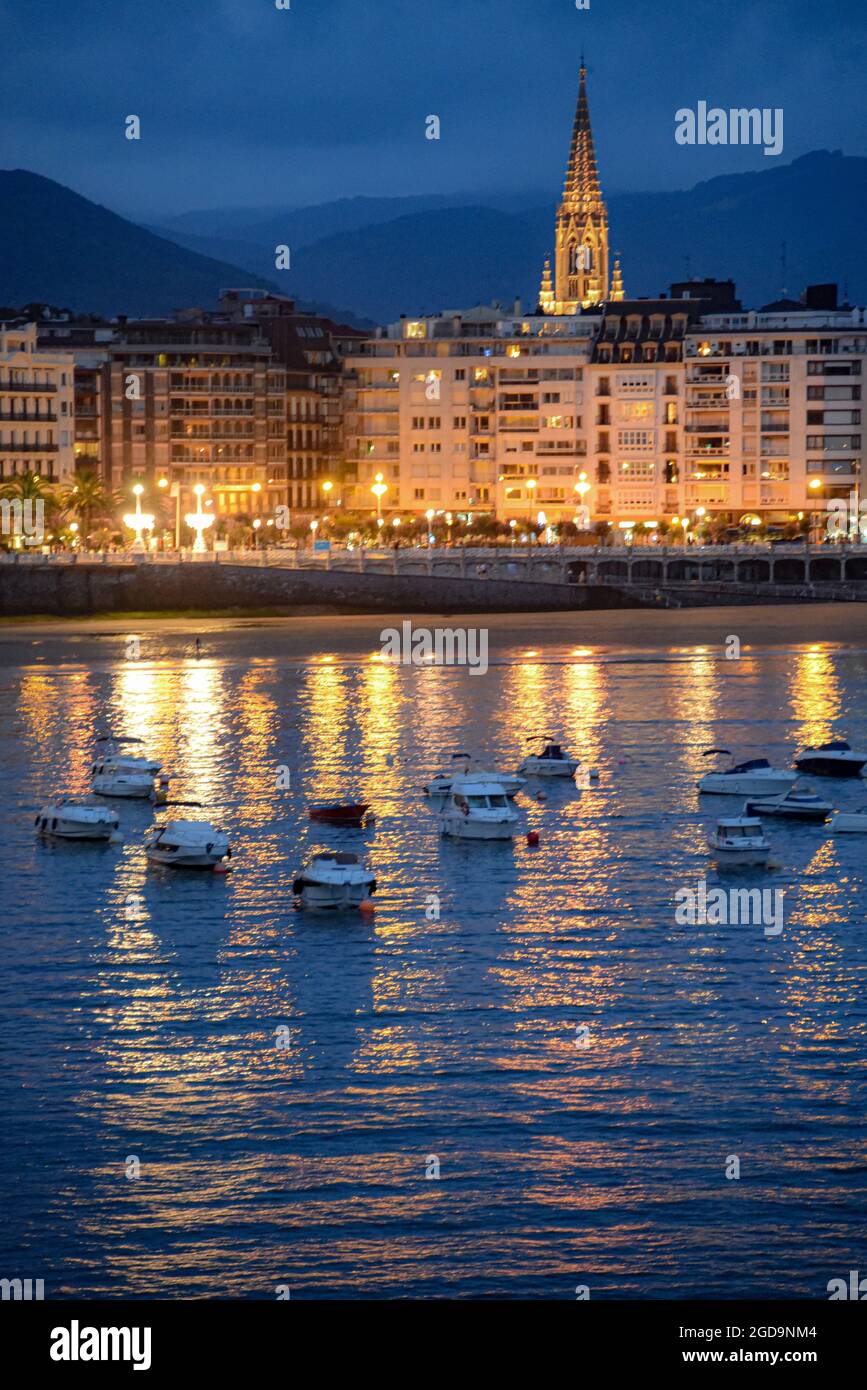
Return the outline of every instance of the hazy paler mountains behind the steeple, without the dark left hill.
<path id="1" fill-rule="evenodd" d="M 531 306 L 553 249 L 554 203 L 532 195 L 345 199 L 239 220 L 243 245 L 204 238 L 195 247 L 229 254 L 231 246 L 239 264 L 264 274 L 263 256 L 274 256 L 279 236 L 292 247 L 290 293 L 350 304 L 378 321 L 515 295 Z M 207 227 L 211 214 L 199 215 Z M 861 157 L 820 150 L 679 192 L 613 195 L 609 215 L 628 295 L 714 275 L 731 277 L 748 307 L 825 281 L 867 303 Z"/>

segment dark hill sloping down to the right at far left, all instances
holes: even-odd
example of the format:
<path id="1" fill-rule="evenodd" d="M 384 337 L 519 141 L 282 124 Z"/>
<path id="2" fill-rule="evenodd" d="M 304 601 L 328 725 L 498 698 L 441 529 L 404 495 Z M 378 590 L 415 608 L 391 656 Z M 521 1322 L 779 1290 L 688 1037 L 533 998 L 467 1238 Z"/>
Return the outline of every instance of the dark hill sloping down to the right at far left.
<path id="1" fill-rule="evenodd" d="M 0 303 L 79 311 L 170 313 L 214 304 L 222 286 L 274 282 L 154 236 L 26 170 L 0 170 Z"/>

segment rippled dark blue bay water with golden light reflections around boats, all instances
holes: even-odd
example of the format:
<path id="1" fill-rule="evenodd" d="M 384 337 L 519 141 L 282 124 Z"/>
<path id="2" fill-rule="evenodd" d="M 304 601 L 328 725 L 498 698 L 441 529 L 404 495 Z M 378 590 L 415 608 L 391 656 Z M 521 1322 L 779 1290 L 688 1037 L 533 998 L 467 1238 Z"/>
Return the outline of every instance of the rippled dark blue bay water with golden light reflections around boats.
<path id="1" fill-rule="evenodd" d="M 224 627 L 197 660 L 183 632 L 139 660 L 122 635 L 0 644 L 0 1275 L 49 1297 L 823 1298 L 867 1268 L 866 842 L 768 821 L 778 867 L 743 884 L 785 890 L 775 940 L 674 917 L 717 883 L 702 749 L 863 742 L 867 651 L 789 619 L 739 662 L 556 621 L 531 645 L 497 620 L 484 677 L 371 660 L 375 621 Z M 36 838 L 107 728 L 213 808 L 231 876 L 149 870 L 140 803 L 113 803 L 121 845 Z M 518 799 L 538 849 L 440 840 L 420 787 L 442 755 L 513 769 L 535 730 L 599 784 Z M 346 792 L 375 827 L 310 824 Z M 365 851 L 374 917 L 293 909 L 324 845 Z"/>

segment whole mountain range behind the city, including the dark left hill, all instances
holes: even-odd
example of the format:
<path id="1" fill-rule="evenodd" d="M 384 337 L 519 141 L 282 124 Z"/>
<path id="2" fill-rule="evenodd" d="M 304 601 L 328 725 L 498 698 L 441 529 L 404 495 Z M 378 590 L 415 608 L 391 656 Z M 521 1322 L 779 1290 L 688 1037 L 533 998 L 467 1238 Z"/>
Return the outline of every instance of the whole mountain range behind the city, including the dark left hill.
<path id="1" fill-rule="evenodd" d="M 0 303 L 160 314 L 247 285 L 360 327 L 515 296 L 529 309 L 554 204 L 532 193 L 353 197 L 189 213 L 150 229 L 51 179 L 0 172 Z M 629 296 L 714 275 L 731 277 L 746 307 L 825 281 L 867 303 L 867 158 L 820 150 L 679 192 L 613 195 L 609 215 Z M 276 271 L 283 242 L 292 270 Z"/>

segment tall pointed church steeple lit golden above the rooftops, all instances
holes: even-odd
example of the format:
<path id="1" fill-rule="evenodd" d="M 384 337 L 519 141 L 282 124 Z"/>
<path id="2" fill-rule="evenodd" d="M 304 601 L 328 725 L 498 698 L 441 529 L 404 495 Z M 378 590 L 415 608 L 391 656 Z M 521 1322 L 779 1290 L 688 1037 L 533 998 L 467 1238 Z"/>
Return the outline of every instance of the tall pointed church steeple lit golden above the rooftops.
<path id="1" fill-rule="evenodd" d="M 575 314 L 602 303 L 609 291 L 609 210 L 599 188 L 584 58 L 556 242 L 554 289 L 542 295 L 545 313 Z M 618 288 L 622 296 L 622 281 Z"/>

